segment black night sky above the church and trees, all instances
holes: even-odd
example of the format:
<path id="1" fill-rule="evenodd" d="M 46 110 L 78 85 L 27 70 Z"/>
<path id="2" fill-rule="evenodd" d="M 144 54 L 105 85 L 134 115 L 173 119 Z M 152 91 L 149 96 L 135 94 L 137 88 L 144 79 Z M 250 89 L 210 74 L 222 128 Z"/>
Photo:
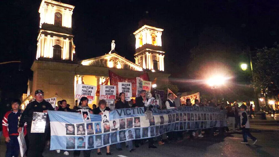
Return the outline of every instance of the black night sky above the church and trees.
<path id="1" fill-rule="evenodd" d="M 108 53 L 111 41 L 115 40 L 119 55 L 135 62 L 133 32 L 142 26 L 140 20 L 148 19 L 164 29 L 165 71 L 173 78 L 187 77 L 190 50 L 198 46 L 205 28 L 222 28 L 241 48 L 270 47 L 278 41 L 278 0 L 69 2 L 75 6 L 72 28 L 79 59 Z M 2 97 L 19 97 L 27 91 L 37 49 L 40 3 L 40 0 L 0 2 L 0 62 L 22 61 L 22 64 L 0 65 Z"/>

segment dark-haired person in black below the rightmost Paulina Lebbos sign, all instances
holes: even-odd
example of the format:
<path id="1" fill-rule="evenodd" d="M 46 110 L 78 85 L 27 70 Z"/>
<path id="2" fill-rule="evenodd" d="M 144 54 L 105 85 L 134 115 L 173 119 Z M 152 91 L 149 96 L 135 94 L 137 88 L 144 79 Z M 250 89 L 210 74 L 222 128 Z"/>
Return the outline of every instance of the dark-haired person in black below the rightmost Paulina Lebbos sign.
<path id="1" fill-rule="evenodd" d="M 123 92 L 119 93 L 119 100 L 115 104 L 115 109 L 122 109 L 122 108 L 130 108 L 129 103 L 125 100 L 125 93 Z M 135 150 L 133 149 L 133 141 L 132 140 L 127 141 L 127 144 L 128 144 L 129 151 L 133 152 Z M 116 143 L 116 149 L 119 151 L 122 150 L 121 143 Z"/>

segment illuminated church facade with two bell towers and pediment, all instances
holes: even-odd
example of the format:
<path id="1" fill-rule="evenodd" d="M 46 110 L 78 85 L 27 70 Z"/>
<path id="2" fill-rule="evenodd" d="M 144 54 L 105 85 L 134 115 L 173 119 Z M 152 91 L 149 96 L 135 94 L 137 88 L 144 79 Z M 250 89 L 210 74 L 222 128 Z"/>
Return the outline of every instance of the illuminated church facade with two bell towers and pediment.
<path id="1" fill-rule="evenodd" d="M 22 96 L 22 109 L 34 98 L 37 89 L 44 91 L 45 99 L 65 99 L 72 108 L 76 85 L 98 86 L 108 78 L 108 70 L 127 78 L 147 72 L 150 81 L 157 78 L 157 86 L 169 82 L 170 74 L 164 72 L 163 29 L 153 26 L 144 25 L 133 33 L 135 62 L 118 55 L 114 49 L 99 57 L 73 61 L 73 9 L 74 6 L 58 1 L 41 2 L 36 60 L 31 66 L 33 79 L 28 81 L 27 93 Z M 98 101 L 99 97 L 96 97 L 92 104 L 98 104 Z M 89 106 L 92 107 L 92 104 Z"/>

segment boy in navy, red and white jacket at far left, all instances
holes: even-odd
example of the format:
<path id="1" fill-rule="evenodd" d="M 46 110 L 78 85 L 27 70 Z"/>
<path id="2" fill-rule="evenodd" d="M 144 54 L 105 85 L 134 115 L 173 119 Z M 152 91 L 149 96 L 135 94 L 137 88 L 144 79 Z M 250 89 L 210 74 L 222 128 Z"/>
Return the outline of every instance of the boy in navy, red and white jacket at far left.
<path id="1" fill-rule="evenodd" d="M 19 99 L 12 101 L 12 110 L 8 111 L 2 120 L 3 135 L 7 144 L 6 156 L 18 156 L 19 143 L 18 143 L 18 118 L 21 115 Z M 24 125 L 24 135 L 26 135 L 26 123 Z"/>

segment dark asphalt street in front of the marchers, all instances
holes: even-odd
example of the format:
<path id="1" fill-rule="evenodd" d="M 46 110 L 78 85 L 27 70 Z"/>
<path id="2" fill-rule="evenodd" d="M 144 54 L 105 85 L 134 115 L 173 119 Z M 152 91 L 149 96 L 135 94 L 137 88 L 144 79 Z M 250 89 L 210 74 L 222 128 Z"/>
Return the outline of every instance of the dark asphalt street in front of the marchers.
<path id="1" fill-rule="evenodd" d="M 256 145 L 241 144 L 242 135 L 234 133 L 225 138 L 210 138 L 202 139 L 186 139 L 182 143 L 167 143 L 164 146 L 158 146 L 157 149 L 148 149 L 148 144 L 140 145 L 134 152 L 130 153 L 125 149 L 117 151 L 115 145 L 111 146 L 111 156 L 119 157 L 142 157 L 142 156 L 278 156 L 279 152 L 279 133 L 252 133 L 258 138 Z M 124 142 L 125 143 L 125 142 Z M 123 148 L 125 147 L 123 143 Z M 249 140 L 252 143 L 252 140 Z M 2 143 L 0 146 L 0 156 L 5 156 L 6 146 Z M 106 156 L 105 148 L 102 148 L 103 155 Z M 91 156 L 96 156 L 97 150 L 92 150 Z M 46 150 L 43 154 L 45 157 L 62 157 L 62 153 L 57 154 L 55 151 Z M 69 157 L 72 156 L 70 151 Z M 82 156 L 82 155 L 81 155 Z"/>

